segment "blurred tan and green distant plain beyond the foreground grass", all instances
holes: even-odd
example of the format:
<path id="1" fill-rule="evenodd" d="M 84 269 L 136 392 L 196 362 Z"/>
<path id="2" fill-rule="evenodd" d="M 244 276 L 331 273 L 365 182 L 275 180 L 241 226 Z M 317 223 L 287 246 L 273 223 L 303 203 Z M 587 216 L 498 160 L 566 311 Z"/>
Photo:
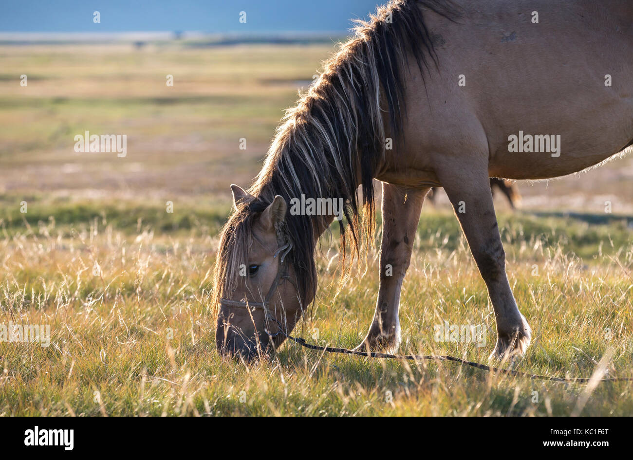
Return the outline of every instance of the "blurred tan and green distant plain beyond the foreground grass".
<path id="1" fill-rule="evenodd" d="M 245 186 L 256 175 L 284 109 L 333 48 L 333 40 L 0 46 L 0 192 L 6 204 L 23 197 L 227 204 L 230 183 Z M 127 134 L 127 157 L 73 151 L 85 131 Z M 605 214 L 610 201 L 613 214 L 633 214 L 631 161 L 521 182 L 523 208 Z"/>

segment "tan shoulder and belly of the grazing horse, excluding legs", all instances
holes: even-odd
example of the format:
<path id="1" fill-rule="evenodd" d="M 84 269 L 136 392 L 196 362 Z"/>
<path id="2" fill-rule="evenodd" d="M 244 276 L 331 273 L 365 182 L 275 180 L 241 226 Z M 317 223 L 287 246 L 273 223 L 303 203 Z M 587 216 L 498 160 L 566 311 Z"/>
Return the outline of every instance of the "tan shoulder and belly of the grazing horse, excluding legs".
<path id="1" fill-rule="evenodd" d="M 487 154 L 491 175 L 556 177 L 630 143 L 633 3 L 462 6 L 454 22 L 426 15 L 439 69 L 430 66 L 422 80 L 410 66 L 409 166 Z"/>

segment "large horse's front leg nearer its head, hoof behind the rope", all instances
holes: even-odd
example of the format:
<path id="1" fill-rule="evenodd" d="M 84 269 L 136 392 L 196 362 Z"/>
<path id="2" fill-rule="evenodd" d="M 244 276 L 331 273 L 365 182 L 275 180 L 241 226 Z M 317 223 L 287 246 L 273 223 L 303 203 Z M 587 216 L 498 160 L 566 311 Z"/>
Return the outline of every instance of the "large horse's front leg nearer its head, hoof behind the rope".
<path id="1" fill-rule="evenodd" d="M 400 290 L 428 190 L 403 190 L 382 183 L 380 288 L 372 325 L 358 351 L 394 351 L 400 344 Z"/>

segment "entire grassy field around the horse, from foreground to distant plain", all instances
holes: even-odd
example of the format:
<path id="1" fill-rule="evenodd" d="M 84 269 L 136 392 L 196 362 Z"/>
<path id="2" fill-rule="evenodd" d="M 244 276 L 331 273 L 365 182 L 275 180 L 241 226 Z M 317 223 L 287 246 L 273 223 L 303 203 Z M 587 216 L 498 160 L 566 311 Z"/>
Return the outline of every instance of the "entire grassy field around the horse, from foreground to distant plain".
<path id="1" fill-rule="evenodd" d="M 1 415 L 633 414 L 632 383 L 591 389 L 291 344 L 251 367 L 217 356 L 211 271 L 228 186 L 256 175 L 282 110 L 331 48 L 0 47 L 0 324 L 52 332 L 49 347 L 0 342 Z M 74 152 L 85 130 L 127 134 L 127 157 Z M 534 331 L 517 370 L 591 376 L 605 357 L 610 375 L 633 376 L 630 171 L 620 159 L 520 183 L 515 213 L 498 198 L 510 282 Z M 492 308 L 438 201 L 420 220 L 399 351 L 486 362 Z M 377 255 L 339 285 L 336 249 L 323 241 L 318 299 L 296 333 L 351 347 L 372 319 Z M 444 321 L 486 325 L 486 344 L 436 341 Z"/>

